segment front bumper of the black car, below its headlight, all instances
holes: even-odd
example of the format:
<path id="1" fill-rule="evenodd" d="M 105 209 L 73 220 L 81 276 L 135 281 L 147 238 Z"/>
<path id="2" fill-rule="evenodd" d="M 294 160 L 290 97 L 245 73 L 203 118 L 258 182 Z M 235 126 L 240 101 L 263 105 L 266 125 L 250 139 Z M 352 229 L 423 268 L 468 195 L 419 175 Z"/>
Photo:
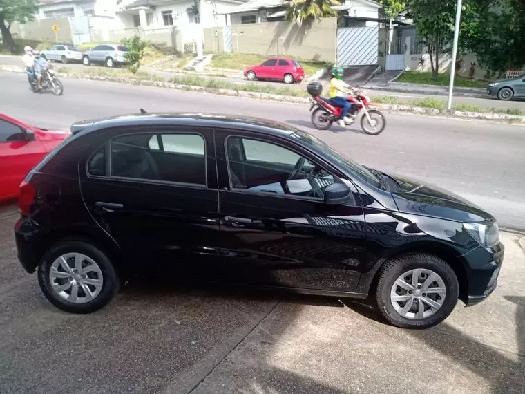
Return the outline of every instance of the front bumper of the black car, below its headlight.
<path id="1" fill-rule="evenodd" d="M 502 270 L 505 247 L 499 243 L 490 250 L 479 247 L 465 255 L 472 269 L 468 283 L 466 306 L 473 306 L 490 296 L 497 287 Z"/>

